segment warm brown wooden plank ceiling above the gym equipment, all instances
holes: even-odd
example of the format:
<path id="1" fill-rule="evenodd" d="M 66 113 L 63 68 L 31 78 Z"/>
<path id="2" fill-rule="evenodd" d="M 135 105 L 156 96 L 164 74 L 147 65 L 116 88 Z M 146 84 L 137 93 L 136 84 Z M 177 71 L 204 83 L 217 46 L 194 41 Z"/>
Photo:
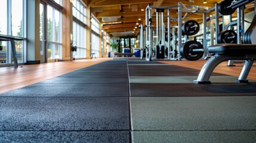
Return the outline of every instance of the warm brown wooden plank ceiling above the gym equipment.
<path id="1" fill-rule="evenodd" d="M 207 3 L 203 4 L 203 1 Z M 146 12 L 141 11 L 141 9 L 145 10 L 148 4 L 155 7 L 169 7 L 177 5 L 178 2 L 182 2 L 187 8 L 198 7 L 200 10 L 208 10 L 214 7 L 215 3 L 220 3 L 221 0 L 89 0 L 88 4 L 91 7 L 92 14 L 103 24 L 103 29 L 110 35 L 119 37 L 138 35 L 139 29 L 136 23 L 145 22 Z M 124 12 L 121 12 L 121 10 L 124 10 Z M 253 3 L 246 5 L 245 13 L 252 10 L 254 10 Z M 214 11 L 212 14 L 214 14 Z M 234 16 L 236 16 L 235 14 Z M 124 18 L 121 18 L 121 16 Z M 171 17 L 177 17 L 176 10 L 171 10 Z M 200 22 L 202 18 L 202 14 L 194 13 L 189 14 L 186 20 L 193 19 Z M 177 24 L 177 21 L 171 21 L 171 25 L 175 24 Z M 135 28 L 136 26 L 137 28 Z"/>

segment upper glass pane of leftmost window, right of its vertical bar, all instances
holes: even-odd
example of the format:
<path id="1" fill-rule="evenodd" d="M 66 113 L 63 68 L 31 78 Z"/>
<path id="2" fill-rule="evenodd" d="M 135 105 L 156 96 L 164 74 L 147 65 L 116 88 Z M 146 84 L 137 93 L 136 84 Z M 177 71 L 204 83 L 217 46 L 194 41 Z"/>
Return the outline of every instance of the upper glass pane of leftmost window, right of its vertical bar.
<path id="1" fill-rule="evenodd" d="M 23 1 L 11 1 L 11 35 L 22 37 Z"/>

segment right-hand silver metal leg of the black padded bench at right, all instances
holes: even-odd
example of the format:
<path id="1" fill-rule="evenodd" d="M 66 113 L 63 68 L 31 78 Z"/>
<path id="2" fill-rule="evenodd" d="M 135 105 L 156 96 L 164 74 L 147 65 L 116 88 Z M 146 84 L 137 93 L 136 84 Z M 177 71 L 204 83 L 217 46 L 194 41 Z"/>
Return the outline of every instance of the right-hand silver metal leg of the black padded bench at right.
<path id="1" fill-rule="evenodd" d="M 243 69 L 242 69 L 238 79 L 236 79 L 236 82 L 239 82 L 239 83 L 248 82 L 248 80 L 246 80 L 246 79 L 249 74 L 249 71 L 251 70 L 253 63 L 254 63 L 254 60 L 246 60 L 245 61 L 245 65 L 243 65 Z"/>

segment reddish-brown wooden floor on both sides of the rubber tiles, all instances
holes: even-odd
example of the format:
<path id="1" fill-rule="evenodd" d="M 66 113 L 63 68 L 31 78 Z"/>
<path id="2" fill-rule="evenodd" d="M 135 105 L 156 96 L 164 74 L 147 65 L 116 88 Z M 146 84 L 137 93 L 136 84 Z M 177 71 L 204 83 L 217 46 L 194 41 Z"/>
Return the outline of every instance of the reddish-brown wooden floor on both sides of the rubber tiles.
<path id="1" fill-rule="evenodd" d="M 73 70 L 82 69 L 93 64 L 101 63 L 103 61 L 112 60 L 112 58 L 97 58 L 97 60 L 75 60 L 75 61 L 61 61 L 55 63 L 43 63 L 34 65 L 14 67 L 0 67 L 0 94 L 12 91 L 14 89 L 22 88 L 33 83 L 41 82 L 51 77 L 59 76 L 61 74 L 69 73 Z M 182 67 L 189 67 L 200 70 L 205 60 L 198 61 L 161 61 L 162 63 L 174 64 Z M 236 63 L 235 67 L 227 67 L 227 62 L 221 63 L 216 73 L 227 74 L 231 76 L 239 76 L 242 70 L 243 63 Z M 256 80 L 256 64 L 252 66 L 249 79 Z"/>

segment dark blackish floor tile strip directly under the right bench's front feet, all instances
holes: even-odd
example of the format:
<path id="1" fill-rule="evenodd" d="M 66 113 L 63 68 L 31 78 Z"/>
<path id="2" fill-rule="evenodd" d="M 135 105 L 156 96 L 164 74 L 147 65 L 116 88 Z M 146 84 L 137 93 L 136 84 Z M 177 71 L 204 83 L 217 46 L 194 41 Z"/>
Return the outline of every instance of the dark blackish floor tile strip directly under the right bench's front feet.
<path id="1" fill-rule="evenodd" d="M 256 83 L 131 83 L 131 97 L 254 96 Z"/>

